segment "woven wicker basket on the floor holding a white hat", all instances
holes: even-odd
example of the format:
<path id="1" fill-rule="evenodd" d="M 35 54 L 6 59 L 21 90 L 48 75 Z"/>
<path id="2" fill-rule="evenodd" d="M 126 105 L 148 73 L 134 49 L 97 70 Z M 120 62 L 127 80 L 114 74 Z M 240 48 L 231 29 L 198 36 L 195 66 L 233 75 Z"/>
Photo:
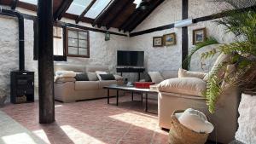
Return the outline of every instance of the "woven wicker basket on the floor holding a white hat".
<path id="1" fill-rule="evenodd" d="M 204 144 L 207 141 L 209 134 L 197 133 L 193 130 L 189 130 L 183 124 L 180 124 L 177 120 L 175 113 L 184 112 L 176 111 L 172 114 L 171 128 L 169 131 L 169 143 L 170 144 Z"/>

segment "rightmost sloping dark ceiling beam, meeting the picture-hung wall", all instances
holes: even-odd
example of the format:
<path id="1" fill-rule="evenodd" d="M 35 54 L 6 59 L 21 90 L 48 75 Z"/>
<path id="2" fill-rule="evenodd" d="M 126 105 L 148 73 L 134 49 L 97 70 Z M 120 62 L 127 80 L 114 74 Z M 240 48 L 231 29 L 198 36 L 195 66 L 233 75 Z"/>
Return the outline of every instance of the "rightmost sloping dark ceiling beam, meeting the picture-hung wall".
<path id="1" fill-rule="evenodd" d="M 143 22 L 143 20 L 145 20 L 148 17 L 149 14 L 151 14 L 154 11 L 154 9 L 156 9 L 164 1 L 165 0 L 158 0 L 156 2 L 154 1 L 153 7 L 151 9 L 148 9 L 143 14 L 143 16 L 138 17 L 136 21 L 134 21 L 133 23 L 131 23 L 131 25 L 125 27 L 124 29 L 129 32 L 133 31 L 138 25 L 140 25 Z"/>

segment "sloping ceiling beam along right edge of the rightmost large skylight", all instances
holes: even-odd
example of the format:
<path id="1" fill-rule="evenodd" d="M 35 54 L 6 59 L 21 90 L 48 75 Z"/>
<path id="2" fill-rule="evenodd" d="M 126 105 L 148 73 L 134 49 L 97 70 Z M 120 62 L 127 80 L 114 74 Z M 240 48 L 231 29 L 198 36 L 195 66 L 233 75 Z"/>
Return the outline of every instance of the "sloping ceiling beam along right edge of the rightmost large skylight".
<path id="1" fill-rule="evenodd" d="M 96 26 L 98 25 L 98 27 L 100 28 L 101 27 L 101 23 L 102 23 L 102 20 L 108 15 L 108 12 L 111 10 L 111 9 L 115 9 L 115 6 L 116 4 L 119 3 L 119 0 L 113 0 L 111 1 L 110 3 L 108 3 L 108 6 L 102 10 L 102 13 L 99 14 L 96 19 L 94 20 L 94 22 L 92 23 L 92 26 Z"/>

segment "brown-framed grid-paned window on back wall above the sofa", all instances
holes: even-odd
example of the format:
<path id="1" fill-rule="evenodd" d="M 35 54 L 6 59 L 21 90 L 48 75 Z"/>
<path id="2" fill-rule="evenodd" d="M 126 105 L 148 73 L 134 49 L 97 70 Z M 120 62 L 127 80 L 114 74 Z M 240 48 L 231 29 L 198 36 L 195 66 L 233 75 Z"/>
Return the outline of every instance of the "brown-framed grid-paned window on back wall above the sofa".
<path id="1" fill-rule="evenodd" d="M 66 55 L 72 57 L 90 57 L 89 32 L 67 28 Z"/>

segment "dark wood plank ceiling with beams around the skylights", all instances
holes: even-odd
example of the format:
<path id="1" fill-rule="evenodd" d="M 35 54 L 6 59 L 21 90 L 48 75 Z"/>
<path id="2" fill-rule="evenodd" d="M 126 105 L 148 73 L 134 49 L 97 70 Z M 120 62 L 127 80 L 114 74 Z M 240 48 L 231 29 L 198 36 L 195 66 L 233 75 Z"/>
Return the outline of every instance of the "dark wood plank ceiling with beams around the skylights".
<path id="1" fill-rule="evenodd" d="M 137 8 L 137 4 L 134 3 L 134 0 L 112 0 L 96 19 L 90 19 L 84 17 L 84 15 L 90 10 L 93 4 L 96 3 L 96 0 L 91 0 L 89 6 L 84 9 L 83 13 L 80 15 L 66 13 L 71 3 L 73 3 L 73 0 L 53 0 L 53 13 L 55 20 L 61 20 L 62 17 L 66 17 L 75 20 L 76 23 L 81 21 L 90 23 L 92 26 L 99 28 L 105 26 L 107 29 L 113 27 L 118 28 L 119 31 L 131 32 L 165 0 L 144 1 L 147 1 L 149 6 L 148 9 L 143 10 Z M 37 11 L 36 5 L 20 2 L 19 0 L 0 0 L 0 5 L 8 5 L 11 9 L 20 7 L 22 9 Z"/>

